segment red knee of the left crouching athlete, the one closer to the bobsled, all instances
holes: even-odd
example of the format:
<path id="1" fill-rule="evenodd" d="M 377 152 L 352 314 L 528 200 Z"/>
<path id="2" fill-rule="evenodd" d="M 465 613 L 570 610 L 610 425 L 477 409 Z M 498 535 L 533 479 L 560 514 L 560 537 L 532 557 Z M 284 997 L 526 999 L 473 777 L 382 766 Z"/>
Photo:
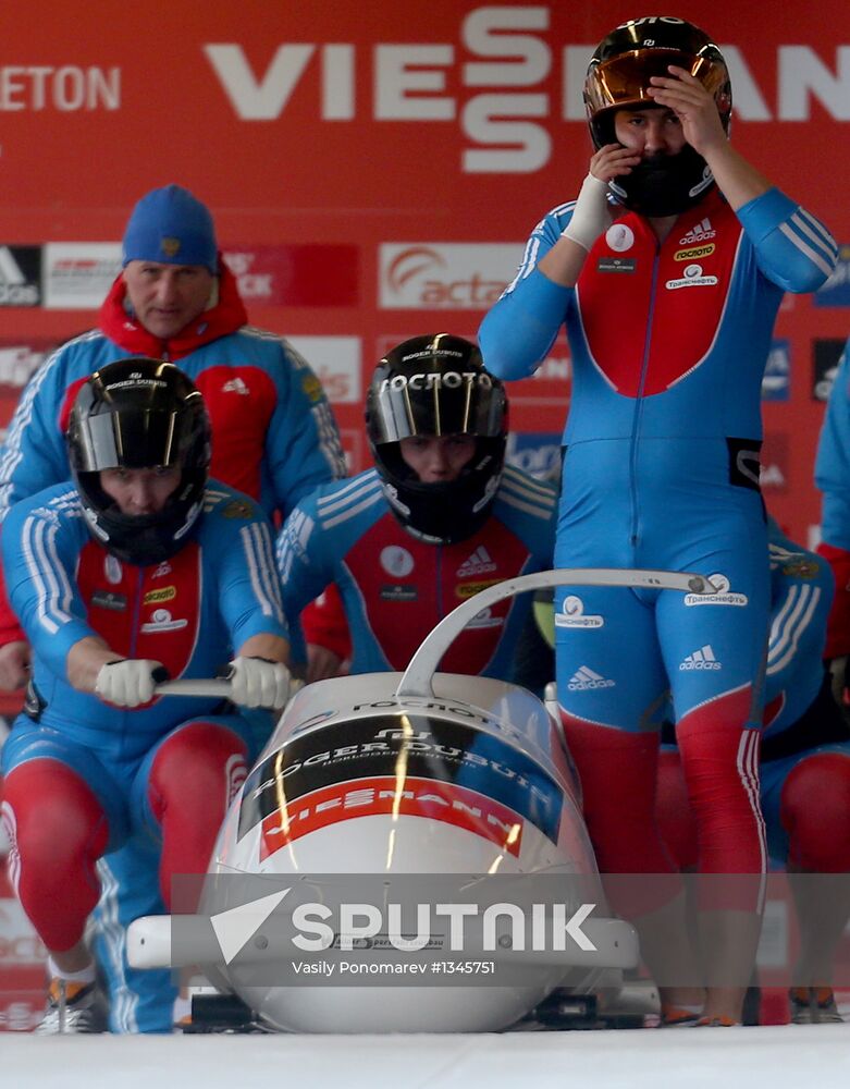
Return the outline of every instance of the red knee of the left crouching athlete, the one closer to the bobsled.
<path id="1" fill-rule="evenodd" d="M 162 828 L 160 885 L 168 905 L 175 874 L 205 873 L 221 822 L 245 782 L 248 749 L 233 730 L 193 722 L 160 747 L 148 800 Z"/>

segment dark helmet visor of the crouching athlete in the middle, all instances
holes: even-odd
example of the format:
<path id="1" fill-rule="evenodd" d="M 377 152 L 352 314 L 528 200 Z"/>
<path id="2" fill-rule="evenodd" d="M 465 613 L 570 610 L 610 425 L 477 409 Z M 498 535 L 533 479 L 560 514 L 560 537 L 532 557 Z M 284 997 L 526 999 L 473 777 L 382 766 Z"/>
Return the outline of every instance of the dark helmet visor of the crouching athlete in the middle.
<path id="1" fill-rule="evenodd" d="M 424 372 L 384 378 L 373 401 L 374 442 L 417 435 L 494 438 L 505 418 L 504 392 L 481 371 Z"/>

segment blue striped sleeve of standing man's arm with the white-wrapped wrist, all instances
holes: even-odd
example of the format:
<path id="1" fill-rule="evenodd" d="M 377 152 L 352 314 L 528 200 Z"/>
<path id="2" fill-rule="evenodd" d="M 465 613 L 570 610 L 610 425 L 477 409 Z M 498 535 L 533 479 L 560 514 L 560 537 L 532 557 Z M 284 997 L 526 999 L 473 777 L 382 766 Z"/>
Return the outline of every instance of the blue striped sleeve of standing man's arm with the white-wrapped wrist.
<path id="1" fill-rule="evenodd" d="M 574 207 L 572 203 L 562 205 L 538 223 L 516 277 L 481 322 L 481 354 L 497 378 L 532 375 L 555 342 L 572 289 L 550 280 L 537 266 L 560 237 Z"/>

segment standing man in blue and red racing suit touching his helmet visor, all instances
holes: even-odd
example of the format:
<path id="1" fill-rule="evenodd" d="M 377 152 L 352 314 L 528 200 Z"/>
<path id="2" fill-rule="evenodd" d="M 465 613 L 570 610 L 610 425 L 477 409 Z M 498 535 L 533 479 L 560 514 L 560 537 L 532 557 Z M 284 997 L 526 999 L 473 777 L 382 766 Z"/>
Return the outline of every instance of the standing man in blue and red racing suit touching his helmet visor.
<path id="1" fill-rule="evenodd" d="M 566 325 L 574 386 L 556 566 L 694 571 L 720 592 L 560 590 L 558 700 L 603 872 L 670 872 L 652 805 L 653 725 L 669 687 L 700 870 L 759 873 L 760 384 L 783 292 L 815 290 L 836 246 L 728 143 L 726 65 L 699 28 L 672 17 L 618 27 L 594 53 L 586 100 L 590 174 L 532 233 L 481 326 L 484 362 L 526 377 Z M 625 209 L 611 208 L 609 192 Z M 593 624 L 575 624 L 577 609 Z M 624 907 L 650 957 L 676 931 L 665 909 L 681 919 L 678 888 L 648 882 Z M 706 1023 L 735 1023 L 757 919 L 744 932 L 713 909 L 752 910 L 759 894 L 718 904 L 704 892 L 706 940 L 727 951 L 710 955 Z"/>

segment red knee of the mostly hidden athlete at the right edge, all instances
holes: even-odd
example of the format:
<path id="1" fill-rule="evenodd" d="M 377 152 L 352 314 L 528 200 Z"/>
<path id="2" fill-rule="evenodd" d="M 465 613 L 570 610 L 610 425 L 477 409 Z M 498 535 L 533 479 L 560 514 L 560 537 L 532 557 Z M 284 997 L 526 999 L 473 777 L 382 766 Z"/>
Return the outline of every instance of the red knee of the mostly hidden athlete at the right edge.
<path id="1" fill-rule="evenodd" d="M 850 872 L 850 757 L 814 752 L 796 764 L 783 784 L 779 817 L 796 869 Z"/>

